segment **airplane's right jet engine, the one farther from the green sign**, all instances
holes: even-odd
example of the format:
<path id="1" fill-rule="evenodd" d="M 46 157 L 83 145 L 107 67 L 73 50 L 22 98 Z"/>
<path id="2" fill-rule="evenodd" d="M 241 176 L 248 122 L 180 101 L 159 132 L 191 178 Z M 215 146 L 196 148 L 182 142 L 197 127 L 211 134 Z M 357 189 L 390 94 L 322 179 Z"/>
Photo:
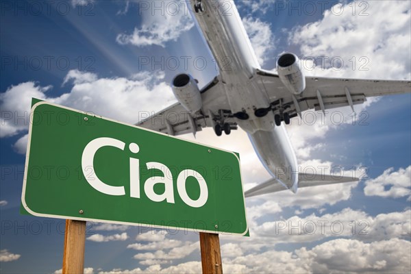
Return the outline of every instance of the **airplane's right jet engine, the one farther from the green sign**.
<path id="1" fill-rule="evenodd" d="M 306 89 L 306 77 L 300 68 L 298 57 L 292 53 L 284 53 L 277 62 L 279 79 L 284 86 L 295 95 L 301 94 Z"/>

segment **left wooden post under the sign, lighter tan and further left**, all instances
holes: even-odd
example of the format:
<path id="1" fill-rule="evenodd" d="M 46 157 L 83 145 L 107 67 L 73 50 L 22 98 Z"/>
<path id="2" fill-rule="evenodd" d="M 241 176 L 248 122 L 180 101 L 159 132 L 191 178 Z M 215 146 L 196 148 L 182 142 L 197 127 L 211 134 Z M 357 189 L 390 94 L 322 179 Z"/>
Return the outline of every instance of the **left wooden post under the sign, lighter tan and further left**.
<path id="1" fill-rule="evenodd" d="M 63 274 L 84 272 L 86 221 L 66 220 L 64 234 Z"/>

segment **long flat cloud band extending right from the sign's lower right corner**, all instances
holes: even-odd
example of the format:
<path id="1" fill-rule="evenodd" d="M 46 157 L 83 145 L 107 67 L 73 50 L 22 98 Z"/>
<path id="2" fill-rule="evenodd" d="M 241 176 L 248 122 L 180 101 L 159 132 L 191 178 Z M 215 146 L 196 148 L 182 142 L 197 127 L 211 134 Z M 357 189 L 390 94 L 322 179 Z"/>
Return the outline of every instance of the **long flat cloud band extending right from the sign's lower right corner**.
<path id="1" fill-rule="evenodd" d="M 313 242 L 323 238 L 353 237 L 362 241 L 406 238 L 411 234 L 411 210 L 369 216 L 346 208 L 334 214 L 260 223 L 253 229 L 257 237 L 274 237 L 276 242 Z"/>

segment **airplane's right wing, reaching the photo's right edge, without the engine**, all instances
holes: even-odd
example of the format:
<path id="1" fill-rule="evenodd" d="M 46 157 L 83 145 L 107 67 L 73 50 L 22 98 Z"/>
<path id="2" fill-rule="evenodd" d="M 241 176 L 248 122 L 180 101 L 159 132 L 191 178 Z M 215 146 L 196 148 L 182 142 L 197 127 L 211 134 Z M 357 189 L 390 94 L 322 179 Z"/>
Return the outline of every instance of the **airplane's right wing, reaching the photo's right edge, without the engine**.
<path id="1" fill-rule="evenodd" d="M 346 105 L 353 109 L 353 105 L 364 103 L 366 97 L 411 92 L 410 81 L 306 77 L 306 89 L 301 95 L 292 95 L 275 73 L 257 70 L 256 81 L 266 91 L 273 110 L 282 105 L 290 118 L 304 110 L 325 112 Z"/>

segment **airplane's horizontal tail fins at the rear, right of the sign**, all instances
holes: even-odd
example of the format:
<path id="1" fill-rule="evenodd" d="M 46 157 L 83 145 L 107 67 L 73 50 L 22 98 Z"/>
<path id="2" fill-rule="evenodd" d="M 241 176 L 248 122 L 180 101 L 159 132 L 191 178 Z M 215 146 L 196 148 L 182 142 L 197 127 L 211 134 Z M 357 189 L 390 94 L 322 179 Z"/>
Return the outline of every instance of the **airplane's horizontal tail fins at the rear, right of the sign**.
<path id="1" fill-rule="evenodd" d="M 309 186 L 323 186 L 326 184 L 340 184 L 349 182 L 358 182 L 358 178 L 355 177 L 343 177 L 337 175 L 323 175 L 323 174 L 310 174 L 310 173 L 299 173 L 298 175 L 298 188 L 306 188 Z M 272 192 L 278 192 L 286 190 L 284 185 L 281 184 L 277 179 L 271 178 L 266 182 L 259 184 L 249 190 L 247 190 L 244 195 L 246 198 L 264 195 Z M 297 192 L 297 187 L 293 192 Z"/>

